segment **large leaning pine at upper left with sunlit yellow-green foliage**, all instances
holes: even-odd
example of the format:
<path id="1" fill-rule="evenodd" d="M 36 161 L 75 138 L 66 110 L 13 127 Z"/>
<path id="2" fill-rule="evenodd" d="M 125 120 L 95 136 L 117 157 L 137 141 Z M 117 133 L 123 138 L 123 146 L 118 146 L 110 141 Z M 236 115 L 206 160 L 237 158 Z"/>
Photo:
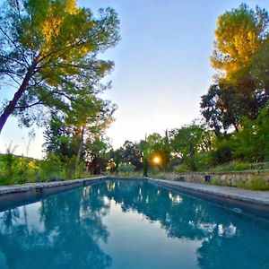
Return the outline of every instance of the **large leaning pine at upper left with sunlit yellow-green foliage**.
<path id="1" fill-rule="evenodd" d="M 0 17 L 0 76 L 15 93 L 4 103 L 0 133 L 12 114 L 30 126 L 41 108 L 43 115 L 66 112 L 94 93 L 113 68 L 97 55 L 117 44 L 118 24 L 113 9 L 94 18 L 74 0 L 7 1 Z"/>

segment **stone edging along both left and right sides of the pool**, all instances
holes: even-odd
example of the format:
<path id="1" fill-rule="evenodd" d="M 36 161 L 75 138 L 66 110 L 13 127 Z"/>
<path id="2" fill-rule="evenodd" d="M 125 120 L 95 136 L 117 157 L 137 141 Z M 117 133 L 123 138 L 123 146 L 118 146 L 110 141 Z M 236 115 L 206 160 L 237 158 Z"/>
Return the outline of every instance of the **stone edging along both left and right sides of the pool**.
<path id="1" fill-rule="evenodd" d="M 56 182 L 26 183 L 22 185 L 0 187 L 0 210 L 13 204 L 15 201 L 29 201 L 39 199 L 40 195 L 53 194 L 74 187 L 87 186 L 108 179 L 123 178 L 83 178 Z M 138 178 L 133 178 L 138 179 Z M 269 218 L 269 191 L 252 191 L 238 187 L 218 187 L 208 184 L 197 184 L 146 178 L 152 184 L 175 189 L 190 195 L 213 201 L 217 204 L 227 204 L 230 207 L 239 207 L 245 212 L 264 213 Z"/>

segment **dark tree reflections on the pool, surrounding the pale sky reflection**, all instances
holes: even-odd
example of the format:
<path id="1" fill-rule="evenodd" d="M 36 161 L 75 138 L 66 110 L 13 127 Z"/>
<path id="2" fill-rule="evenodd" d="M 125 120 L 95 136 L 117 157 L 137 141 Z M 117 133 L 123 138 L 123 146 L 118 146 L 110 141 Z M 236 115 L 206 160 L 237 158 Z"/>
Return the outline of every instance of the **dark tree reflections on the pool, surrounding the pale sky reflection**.
<path id="1" fill-rule="evenodd" d="M 202 242 L 196 250 L 198 268 L 266 268 L 269 263 L 268 222 L 147 182 L 108 181 L 0 213 L 0 267 L 109 267 L 113 256 L 100 242 L 109 242 L 103 223 L 111 201 L 122 213 L 160 222 L 171 239 Z"/>

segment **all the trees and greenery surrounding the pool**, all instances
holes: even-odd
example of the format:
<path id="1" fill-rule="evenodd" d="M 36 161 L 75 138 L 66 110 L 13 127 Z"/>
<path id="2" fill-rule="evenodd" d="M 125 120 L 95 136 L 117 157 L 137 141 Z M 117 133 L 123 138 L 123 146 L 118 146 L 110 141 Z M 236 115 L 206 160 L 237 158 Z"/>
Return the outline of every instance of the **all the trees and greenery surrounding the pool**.
<path id="1" fill-rule="evenodd" d="M 4 104 L 0 131 L 10 115 L 25 126 L 45 124 L 47 157 L 15 157 L 9 148 L 0 158 L 2 184 L 90 174 L 257 169 L 255 163 L 269 161 L 264 9 L 241 4 L 219 17 L 211 56 L 216 74 L 201 98 L 200 119 L 114 150 L 105 131 L 117 107 L 100 98 L 110 86 L 100 80 L 113 63 L 97 54 L 117 44 L 118 23 L 114 10 L 101 10 L 95 18 L 74 1 L 7 2 L 0 18 L 0 73 L 17 90 Z M 46 108 L 46 120 L 37 113 L 40 107 Z M 260 178 L 249 187 L 262 187 Z"/>

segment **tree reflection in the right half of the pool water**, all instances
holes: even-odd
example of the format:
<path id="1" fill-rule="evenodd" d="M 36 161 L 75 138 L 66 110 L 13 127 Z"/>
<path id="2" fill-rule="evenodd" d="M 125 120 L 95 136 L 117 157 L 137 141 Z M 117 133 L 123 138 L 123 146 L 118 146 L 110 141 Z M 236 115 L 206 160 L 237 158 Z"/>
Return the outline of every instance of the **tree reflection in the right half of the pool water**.
<path id="1" fill-rule="evenodd" d="M 108 198 L 123 211 L 135 210 L 150 221 L 160 221 L 168 237 L 202 240 L 196 251 L 199 268 L 269 268 L 268 222 L 150 183 L 113 184 Z"/>

